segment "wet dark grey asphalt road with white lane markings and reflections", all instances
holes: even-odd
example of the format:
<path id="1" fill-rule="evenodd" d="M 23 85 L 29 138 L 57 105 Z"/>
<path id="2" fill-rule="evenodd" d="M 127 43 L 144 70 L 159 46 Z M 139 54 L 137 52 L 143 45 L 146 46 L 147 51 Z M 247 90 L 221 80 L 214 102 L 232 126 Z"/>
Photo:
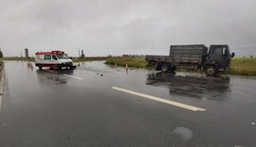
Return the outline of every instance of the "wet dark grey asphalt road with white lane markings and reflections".
<path id="1" fill-rule="evenodd" d="M 255 147 L 256 78 L 5 63 L 1 147 Z"/>

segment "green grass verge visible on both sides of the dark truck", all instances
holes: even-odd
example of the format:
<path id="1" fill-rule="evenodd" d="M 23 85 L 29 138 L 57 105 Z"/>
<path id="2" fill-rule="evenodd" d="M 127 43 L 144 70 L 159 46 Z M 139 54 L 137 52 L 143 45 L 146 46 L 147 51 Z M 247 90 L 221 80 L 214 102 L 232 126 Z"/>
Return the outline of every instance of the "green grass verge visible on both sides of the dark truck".
<path id="1" fill-rule="evenodd" d="M 125 67 L 145 68 L 145 57 L 113 57 L 106 60 L 105 64 Z M 256 57 L 234 57 L 231 60 L 231 67 L 228 72 L 234 75 L 256 76 Z"/>

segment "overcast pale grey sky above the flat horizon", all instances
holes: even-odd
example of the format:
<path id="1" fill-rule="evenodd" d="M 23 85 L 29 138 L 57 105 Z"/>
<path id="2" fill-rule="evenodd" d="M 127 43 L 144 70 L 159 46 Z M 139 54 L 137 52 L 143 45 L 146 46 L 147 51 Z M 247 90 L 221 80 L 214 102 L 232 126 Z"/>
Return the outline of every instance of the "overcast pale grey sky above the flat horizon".
<path id="1" fill-rule="evenodd" d="M 175 44 L 229 44 L 256 56 L 255 0 L 0 0 L 4 56 L 168 55 Z"/>

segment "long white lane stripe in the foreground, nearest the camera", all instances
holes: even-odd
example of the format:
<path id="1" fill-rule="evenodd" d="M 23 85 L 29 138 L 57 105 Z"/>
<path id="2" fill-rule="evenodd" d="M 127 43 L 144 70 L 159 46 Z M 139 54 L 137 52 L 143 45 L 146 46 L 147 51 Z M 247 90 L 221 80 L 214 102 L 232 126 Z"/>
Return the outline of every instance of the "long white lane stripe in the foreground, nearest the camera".
<path id="1" fill-rule="evenodd" d="M 126 92 L 126 93 L 130 93 L 130 94 L 133 94 L 133 95 L 144 97 L 144 98 L 154 100 L 154 101 L 157 101 L 157 102 L 169 104 L 169 105 L 172 105 L 172 106 L 182 107 L 182 108 L 189 109 L 189 110 L 192 110 L 192 111 L 205 111 L 206 110 L 204 108 L 200 108 L 200 107 L 196 107 L 196 106 L 189 106 L 189 105 L 186 105 L 186 104 L 166 100 L 166 99 L 155 97 L 155 96 L 152 96 L 152 95 L 139 93 L 139 92 L 133 91 L 133 90 L 125 90 L 125 89 L 121 89 L 121 88 L 117 88 L 117 87 L 112 87 L 112 89 L 113 90 L 120 90 L 120 91 L 123 91 L 123 92 Z"/>

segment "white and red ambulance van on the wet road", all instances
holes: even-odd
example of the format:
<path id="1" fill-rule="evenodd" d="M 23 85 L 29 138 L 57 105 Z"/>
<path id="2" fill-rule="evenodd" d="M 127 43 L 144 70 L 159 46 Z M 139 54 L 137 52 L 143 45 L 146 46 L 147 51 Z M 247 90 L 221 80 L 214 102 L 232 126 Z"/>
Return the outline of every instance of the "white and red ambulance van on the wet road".
<path id="1" fill-rule="evenodd" d="M 73 70 L 76 66 L 73 65 L 73 61 L 63 51 L 50 51 L 50 52 L 37 52 L 35 56 L 35 65 L 42 70 L 43 67 L 49 67 L 50 69 L 57 68 L 62 70 Z"/>

